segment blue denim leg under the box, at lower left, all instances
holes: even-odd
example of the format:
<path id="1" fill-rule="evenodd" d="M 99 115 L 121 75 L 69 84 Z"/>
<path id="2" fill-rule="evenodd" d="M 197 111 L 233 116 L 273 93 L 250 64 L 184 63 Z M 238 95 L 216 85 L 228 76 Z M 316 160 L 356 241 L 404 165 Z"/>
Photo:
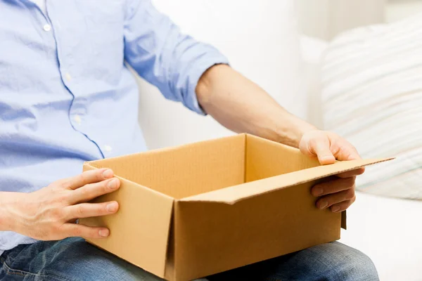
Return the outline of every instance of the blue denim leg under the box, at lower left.
<path id="1" fill-rule="evenodd" d="M 0 257 L 0 280 L 161 280 L 82 238 L 19 245 Z"/>

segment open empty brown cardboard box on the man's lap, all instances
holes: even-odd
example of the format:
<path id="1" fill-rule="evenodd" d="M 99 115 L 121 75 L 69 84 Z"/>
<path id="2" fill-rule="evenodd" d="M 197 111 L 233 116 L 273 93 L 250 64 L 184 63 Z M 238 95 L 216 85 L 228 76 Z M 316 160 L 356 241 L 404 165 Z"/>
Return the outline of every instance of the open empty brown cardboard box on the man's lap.
<path id="1" fill-rule="evenodd" d="M 120 178 L 117 214 L 81 219 L 107 226 L 89 240 L 159 277 L 193 280 L 331 242 L 345 213 L 315 207 L 321 178 L 386 159 L 320 166 L 299 150 L 241 134 L 177 148 L 101 159 Z"/>

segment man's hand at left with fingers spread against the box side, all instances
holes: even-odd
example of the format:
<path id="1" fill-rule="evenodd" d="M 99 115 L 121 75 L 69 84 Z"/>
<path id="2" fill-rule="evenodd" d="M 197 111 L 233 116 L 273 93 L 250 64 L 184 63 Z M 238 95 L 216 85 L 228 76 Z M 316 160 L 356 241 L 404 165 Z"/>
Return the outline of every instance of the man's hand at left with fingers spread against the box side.
<path id="1" fill-rule="evenodd" d="M 78 176 L 51 183 L 31 193 L 21 193 L 8 204 L 14 221 L 13 231 L 37 240 L 61 240 L 66 237 L 103 238 L 110 231 L 75 223 L 78 218 L 114 214 L 117 202 L 87 203 L 120 188 L 110 169 L 85 171 Z"/>

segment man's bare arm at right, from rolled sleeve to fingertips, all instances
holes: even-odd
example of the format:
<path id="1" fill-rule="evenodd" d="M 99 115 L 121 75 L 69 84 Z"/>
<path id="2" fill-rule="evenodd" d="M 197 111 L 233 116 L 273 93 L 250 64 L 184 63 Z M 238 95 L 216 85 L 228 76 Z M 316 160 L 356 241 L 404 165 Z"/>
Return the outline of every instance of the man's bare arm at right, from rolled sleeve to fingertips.
<path id="1" fill-rule="evenodd" d="M 321 164 L 335 159 L 359 159 L 357 150 L 335 133 L 319 131 L 311 124 L 291 115 L 263 89 L 228 65 L 210 67 L 196 86 L 203 110 L 220 124 L 236 132 L 252 133 L 291 145 Z M 343 211 L 355 200 L 354 178 L 364 169 L 338 175 L 335 181 L 315 185 L 312 195 L 319 197 L 320 209 Z"/>

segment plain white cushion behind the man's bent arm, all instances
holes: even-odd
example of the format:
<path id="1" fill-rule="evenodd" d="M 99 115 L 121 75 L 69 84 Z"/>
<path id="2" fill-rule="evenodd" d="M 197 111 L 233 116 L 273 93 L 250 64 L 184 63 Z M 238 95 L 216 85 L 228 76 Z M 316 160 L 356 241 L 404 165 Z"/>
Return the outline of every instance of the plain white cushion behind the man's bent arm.
<path id="1" fill-rule="evenodd" d="M 290 112 L 306 118 L 294 0 L 154 0 L 182 32 L 215 45 L 231 65 L 268 91 Z M 149 148 L 200 141 L 230 132 L 211 117 L 196 115 L 162 98 L 144 81 L 140 124 Z"/>

